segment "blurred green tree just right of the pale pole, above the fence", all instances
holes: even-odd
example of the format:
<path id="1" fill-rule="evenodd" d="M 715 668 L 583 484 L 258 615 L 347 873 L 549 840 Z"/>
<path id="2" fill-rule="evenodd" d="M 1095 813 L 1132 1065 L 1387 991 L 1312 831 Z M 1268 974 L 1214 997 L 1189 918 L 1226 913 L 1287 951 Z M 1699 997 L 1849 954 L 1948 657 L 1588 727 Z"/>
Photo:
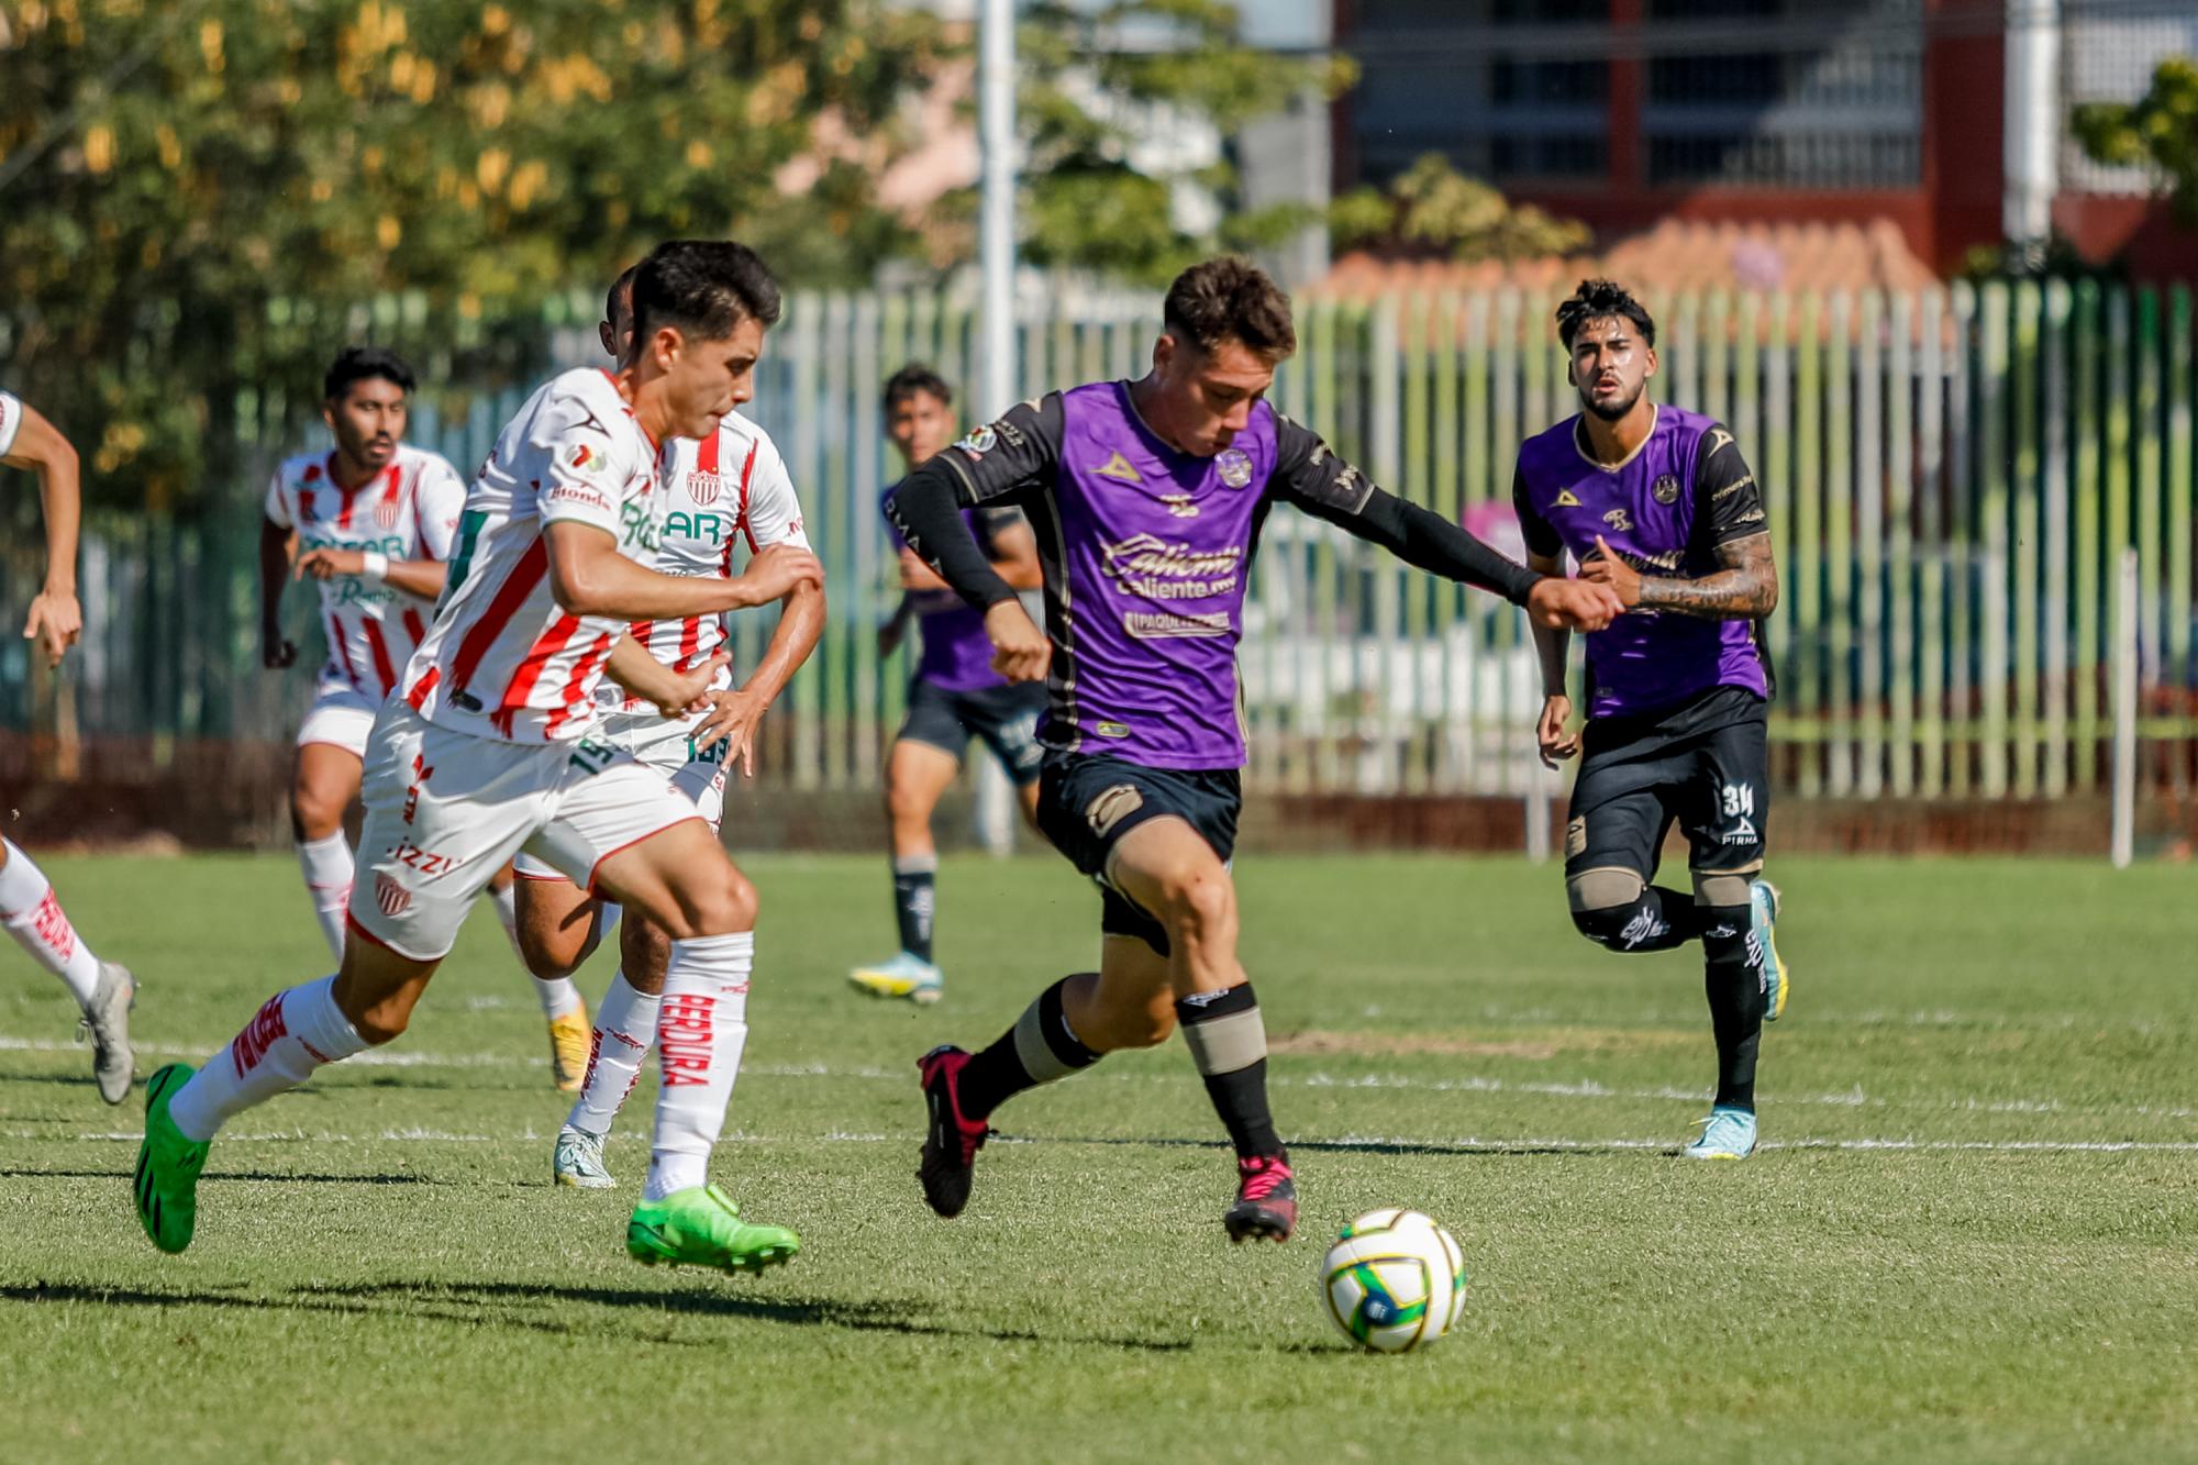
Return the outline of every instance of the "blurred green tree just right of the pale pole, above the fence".
<path id="1" fill-rule="evenodd" d="M 1319 222 L 1306 205 L 1244 209 L 1226 141 L 1244 123 L 1308 92 L 1352 84 L 1347 57 L 1284 57 L 1237 42 L 1226 0 L 1037 0 L 1015 31 L 1022 128 L 1022 255 L 1165 284 L 1218 249 L 1277 244 Z M 1218 158 L 1180 141 L 1222 139 Z M 1202 194 L 1215 222 L 1185 209 Z M 934 220 L 974 255 L 974 191 L 952 194 Z"/>

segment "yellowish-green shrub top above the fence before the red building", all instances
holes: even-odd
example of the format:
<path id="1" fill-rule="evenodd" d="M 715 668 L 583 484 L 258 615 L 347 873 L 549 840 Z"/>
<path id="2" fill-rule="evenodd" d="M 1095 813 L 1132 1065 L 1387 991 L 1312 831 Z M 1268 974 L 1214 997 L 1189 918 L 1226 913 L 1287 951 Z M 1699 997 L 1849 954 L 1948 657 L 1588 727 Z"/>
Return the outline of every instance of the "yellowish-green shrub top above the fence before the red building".
<path id="1" fill-rule="evenodd" d="M 1569 255 L 1594 238 L 1587 224 L 1514 205 L 1466 178 L 1440 152 L 1398 174 L 1387 189 L 1361 187 L 1336 198 L 1328 227 L 1339 249 L 1444 253 L 1453 260 L 1530 260 Z"/>

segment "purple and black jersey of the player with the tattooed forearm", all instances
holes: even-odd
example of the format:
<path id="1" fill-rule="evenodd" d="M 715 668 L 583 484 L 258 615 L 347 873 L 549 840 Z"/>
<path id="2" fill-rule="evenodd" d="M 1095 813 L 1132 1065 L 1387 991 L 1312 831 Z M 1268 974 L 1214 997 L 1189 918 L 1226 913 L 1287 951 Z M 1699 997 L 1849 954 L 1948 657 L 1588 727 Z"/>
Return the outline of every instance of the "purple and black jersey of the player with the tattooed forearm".
<path id="1" fill-rule="evenodd" d="M 1572 416 L 1519 449 L 1512 477 L 1519 528 L 1534 554 L 1596 557 L 1596 535 L 1651 576 L 1721 570 L 1717 548 L 1765 532 L 1763 488 L 1723 422 L 1657 403 L 1646 442 L 1598 464 Z M 1743 686 L 1769 697 L 1752 620 L 1629 609 L 1587 638 L 1587 715 L 1624 717 Z"/>

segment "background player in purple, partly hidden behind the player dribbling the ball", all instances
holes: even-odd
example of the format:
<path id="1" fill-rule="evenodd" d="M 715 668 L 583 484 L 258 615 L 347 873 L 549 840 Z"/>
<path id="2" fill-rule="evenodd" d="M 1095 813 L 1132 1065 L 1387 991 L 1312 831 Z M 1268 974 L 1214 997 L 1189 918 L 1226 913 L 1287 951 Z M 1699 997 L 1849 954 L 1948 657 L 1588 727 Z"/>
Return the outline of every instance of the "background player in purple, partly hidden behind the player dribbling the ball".
<path id="1" fill-rule="evenodd" d="M 886 436 L 908 471 L 930 462 L 954 436 L 954 387 L 923 365 L 895 372 L 886 383 Z M 1020 513 L 985 508 L 969 510 L 963 519 L 1011 590 L 1037 590 L 1037 541 Z M 910 618 L 923 627 L 923 651 L 908 678 L 908 717 L 886 759 L 892 915 L 901 928 L 901 950 L 890 961 L 855 968 L 848 981 L 873 996 L 934 1003 L 945 988 L 939 963 L 932 961 L 932 882 L 939 875 L 932 809 L 954 783 L 969 739 L 976 737 L 1015 783 L 1024 818 L 1037 823 L 1037 765 L 1044 759 L 1037 717 L 1046 711 L 1046 689 L 1009 682 L 993 671 L 985 616 L 963 605 L 906 543 L 899 554 L 903 594 L 892 618 L 877 631 L 877 653 L 892 656 Z"/>

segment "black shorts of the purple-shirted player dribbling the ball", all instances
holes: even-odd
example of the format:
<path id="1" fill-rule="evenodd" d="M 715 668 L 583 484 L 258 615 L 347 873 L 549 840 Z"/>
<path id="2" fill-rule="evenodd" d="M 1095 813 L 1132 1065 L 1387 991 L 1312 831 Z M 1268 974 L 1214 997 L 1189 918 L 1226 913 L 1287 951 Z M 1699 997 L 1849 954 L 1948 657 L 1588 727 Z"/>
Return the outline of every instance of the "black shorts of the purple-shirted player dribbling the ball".
<path id="1" fill-rule="evenodd" d="M 1108 884 L 1108 856 L 1147 818 L 1176 816 L 1226 864 L 1244 779 L 1235 768 L 1145 768 L 1084 752 L 1048 752 L 1037 781 L 1037 827 L 1070 864 L 1099 884 L 1099 930 L 1136 937 L 1167 955 L 1167 930 Z"/>

